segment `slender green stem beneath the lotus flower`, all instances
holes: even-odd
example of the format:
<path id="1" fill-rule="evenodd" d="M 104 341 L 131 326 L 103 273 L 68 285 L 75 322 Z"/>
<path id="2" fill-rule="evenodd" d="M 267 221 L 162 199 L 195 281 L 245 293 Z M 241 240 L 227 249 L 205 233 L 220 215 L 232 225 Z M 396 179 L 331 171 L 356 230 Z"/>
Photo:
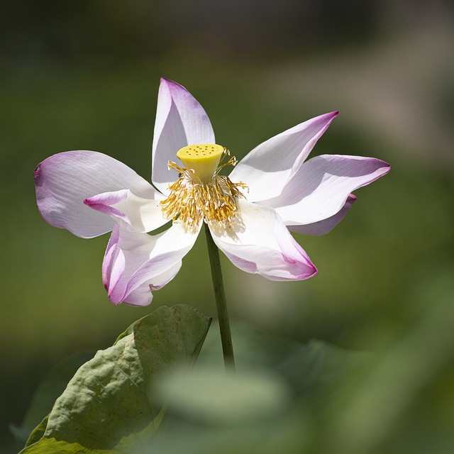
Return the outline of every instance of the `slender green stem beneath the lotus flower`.
<path id="1" fill-rule="evenodd" d="M 214 298 L 216 299 L 216 309 L 218 311 L 219 330 L 221 331 L 222 352 L 226 370 L 235 370 L 235 358 L 233 358 L 232 336 L 230 323 L 228 321 L 226 294 L 222 280 L 221 259 L 219 250 L 211 237 L 208 225 L 205 223 L 206 245 L 211 267 L 211 279 L 213 279 Z"/>

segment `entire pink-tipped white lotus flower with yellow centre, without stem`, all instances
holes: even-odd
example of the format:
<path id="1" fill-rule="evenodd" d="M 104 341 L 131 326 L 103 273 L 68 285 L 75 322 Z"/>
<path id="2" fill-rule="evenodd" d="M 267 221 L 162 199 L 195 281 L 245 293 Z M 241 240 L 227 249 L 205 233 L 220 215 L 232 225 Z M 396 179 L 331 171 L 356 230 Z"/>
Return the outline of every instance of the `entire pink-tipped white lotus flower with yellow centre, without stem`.
<path id="1" fill-rule="evenodd" d="M 337 115 L 300 123 L 237 162 L 216 144 L 199 102 L 181 85 L 161 79 L 153 186 L 112 157 L 68 151 L 36 168 L 38 208 L 52 226 L 82 238 L 112 232 L 102 276 L 114 304 L 150 304 L 153 290 L 179 271 L 203 223 L 240 270 L 277 281 L 307 279 L 316 267 L 290 231 L 331 231 L 355 201 L 351 192 L 389 172 L 386 162 L 373 157 L 319 155 L 306 161 Z M 221 175 L 231 166 L 228 177 Z M 167 230 L 153 234 L 170 221 Z"/>

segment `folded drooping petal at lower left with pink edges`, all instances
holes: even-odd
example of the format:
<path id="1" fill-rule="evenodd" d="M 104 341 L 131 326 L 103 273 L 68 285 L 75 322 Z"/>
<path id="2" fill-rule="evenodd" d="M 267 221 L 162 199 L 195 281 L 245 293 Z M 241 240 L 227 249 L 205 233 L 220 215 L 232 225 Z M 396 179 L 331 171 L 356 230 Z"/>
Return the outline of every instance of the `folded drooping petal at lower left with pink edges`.
<path id="1" fill-rule="evenodd" d="M 178 222 L 155 236 L 115 226 L 103 262 L 109 299 L 114 304 L 150 304 L 151 292 L 175 277 L 198 233 L 188 233 Z"/>

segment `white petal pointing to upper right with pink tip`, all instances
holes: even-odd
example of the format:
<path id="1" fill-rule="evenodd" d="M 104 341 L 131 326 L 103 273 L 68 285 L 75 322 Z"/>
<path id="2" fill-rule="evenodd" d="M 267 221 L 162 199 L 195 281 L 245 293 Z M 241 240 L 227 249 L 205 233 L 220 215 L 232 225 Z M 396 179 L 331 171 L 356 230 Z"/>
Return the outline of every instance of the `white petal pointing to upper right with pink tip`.
<path id="1" fill-rule="evenodd" d="M 336 116 L 317 116 L 266 140 L 238 162 L 230 179 L 248 185 L 249 201 L 278 196 Z"/>

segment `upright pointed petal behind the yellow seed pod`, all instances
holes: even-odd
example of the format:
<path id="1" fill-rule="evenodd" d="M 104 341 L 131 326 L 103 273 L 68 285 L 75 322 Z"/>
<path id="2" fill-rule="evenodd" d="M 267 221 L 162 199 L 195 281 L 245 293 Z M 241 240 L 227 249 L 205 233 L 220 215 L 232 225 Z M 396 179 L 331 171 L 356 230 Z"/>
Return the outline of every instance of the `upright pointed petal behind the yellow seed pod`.
<path id="1" fill-rule="evenodd" d="M 153 184 L 163 194 L 177 174 L 169 170 L 177 151 L 186 145 L 214 143 L 214 131 L 204 108 L 187 89 L 176 82 L 161 79 L 157 96 L 155 132 L 153 135 Z"/>

